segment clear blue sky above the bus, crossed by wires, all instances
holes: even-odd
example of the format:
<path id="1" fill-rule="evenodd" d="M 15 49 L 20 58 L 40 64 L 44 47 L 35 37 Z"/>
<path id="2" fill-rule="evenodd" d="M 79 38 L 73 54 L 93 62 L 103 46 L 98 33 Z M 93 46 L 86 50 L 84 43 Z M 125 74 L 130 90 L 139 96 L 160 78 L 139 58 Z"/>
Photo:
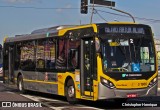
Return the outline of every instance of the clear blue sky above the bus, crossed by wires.
<path id="1" fill-rule="evenodd" d="M 89 24 L 88 14 L 80 13 L 81 0 L 0 0 L 0 43 L 5 36 L 30 34 L 32 31 L 57 25 Z M 114 0 L 115 8 L 135 17 L 137 23 L 152 27 L 160 39 L 160 0 Z M 90 2 L 90 0 L 88 0 Z M 89 3 L 89 5 L 91 5 Z M 93 23 L 129 21 L 130 17 L 105 7 L 95 7 Z"/>

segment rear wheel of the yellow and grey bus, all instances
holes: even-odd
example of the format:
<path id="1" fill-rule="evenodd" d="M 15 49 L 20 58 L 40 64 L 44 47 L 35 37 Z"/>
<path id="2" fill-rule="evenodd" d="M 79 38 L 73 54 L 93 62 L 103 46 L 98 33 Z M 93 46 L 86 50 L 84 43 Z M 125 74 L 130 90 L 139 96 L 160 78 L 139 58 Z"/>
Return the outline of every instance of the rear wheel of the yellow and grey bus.
<path id="1" fill-rule="evenodd" d="M 24 83 L 23 83 L 22 75 L 20 75 L 18 77 L 17 87 L 18 87 L 19 92 L 21 92 L 23 94 L 26 92 L 25 89 L 24 89 Z"/>

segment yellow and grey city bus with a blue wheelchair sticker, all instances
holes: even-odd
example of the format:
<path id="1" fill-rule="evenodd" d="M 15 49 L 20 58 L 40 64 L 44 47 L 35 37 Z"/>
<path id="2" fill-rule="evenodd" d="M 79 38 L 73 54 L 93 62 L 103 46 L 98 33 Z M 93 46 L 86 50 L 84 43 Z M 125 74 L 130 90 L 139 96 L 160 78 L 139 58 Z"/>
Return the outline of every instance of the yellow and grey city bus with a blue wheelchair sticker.
<path id="1" fill-rule="evenodd" d="M 131 22 L 63 25 L 4 39 L 4 83 L 78 99 L 156 96 L 151 27 Z"/>

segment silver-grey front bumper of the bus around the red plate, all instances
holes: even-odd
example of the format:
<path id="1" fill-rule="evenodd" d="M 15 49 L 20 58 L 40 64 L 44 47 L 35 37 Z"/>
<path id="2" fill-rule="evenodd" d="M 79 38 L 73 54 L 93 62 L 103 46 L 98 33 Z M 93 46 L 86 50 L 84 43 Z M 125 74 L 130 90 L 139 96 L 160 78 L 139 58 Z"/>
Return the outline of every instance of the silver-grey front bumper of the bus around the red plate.
<path id="1" fill-rule="evenodd" d="M 158 83 L 152 87 L 143 89 L 110 89 L 101 83 L 99 84 L 98 99 L 112 99 L 112 98 L 128 98 L 128 94 L 137 94 L 137 97 L 156 96 Z"/>

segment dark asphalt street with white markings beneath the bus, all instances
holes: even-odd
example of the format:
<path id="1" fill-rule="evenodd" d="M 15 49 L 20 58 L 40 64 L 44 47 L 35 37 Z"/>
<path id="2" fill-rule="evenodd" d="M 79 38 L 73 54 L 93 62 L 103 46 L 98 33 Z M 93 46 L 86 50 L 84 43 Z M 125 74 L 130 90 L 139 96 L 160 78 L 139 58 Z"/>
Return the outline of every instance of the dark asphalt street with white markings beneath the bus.
<path id="1" fill-rule="evenodd" d="M 2 78 L 0 78 L 2 80 Z M 147 98 L 128 99 L 127 102 L 114 102 L 108 101 L 79 101 L 79 104 L 70 105 L 64 97 L 42 94 L 28 91 L 26 94 L 20 94 L 16 88 L 8 87 L 0 81 L 0 106 L 2 102 L 13 103 L 39 103 L 40 107 L 1 107 L 1 110 L 99 110 L 99 109 L 112 109 L 112 110 L 159 110 L 160 107 L 160 91 L 158 96 Z M 152 107 L 156 106 L 156 107 Z"/>

